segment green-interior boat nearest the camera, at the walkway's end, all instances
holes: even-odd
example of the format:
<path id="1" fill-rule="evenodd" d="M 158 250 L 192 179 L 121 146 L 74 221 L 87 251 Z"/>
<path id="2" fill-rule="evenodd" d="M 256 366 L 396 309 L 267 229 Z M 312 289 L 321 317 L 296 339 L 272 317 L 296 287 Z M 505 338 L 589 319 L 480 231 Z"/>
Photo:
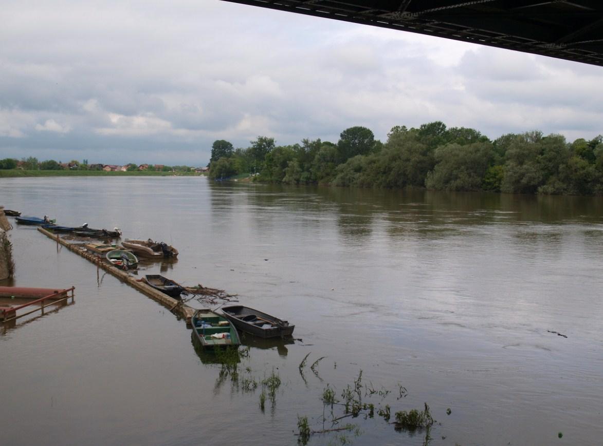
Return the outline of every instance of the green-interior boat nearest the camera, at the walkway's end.
<path id="1" fill-rule="evenodd" d="M 197 310 L 191 318 L 192 330 L 204 348 L 241 345 L 239 333 L 230 321 L 209 309 Z"/>

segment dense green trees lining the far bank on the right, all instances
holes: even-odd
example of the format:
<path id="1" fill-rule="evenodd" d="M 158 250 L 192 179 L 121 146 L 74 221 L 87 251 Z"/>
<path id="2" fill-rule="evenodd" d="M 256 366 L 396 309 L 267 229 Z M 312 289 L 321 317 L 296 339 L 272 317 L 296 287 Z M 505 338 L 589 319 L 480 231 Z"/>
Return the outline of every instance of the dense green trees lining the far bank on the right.
<path id="1" fill-rule="evenodd" d="M 337 143 L 302 140 L 277 146 L 258 137 L 247 149 L 213 143 L 210 178 L 249 174 L 254 181 L 350 187 L 420 187 L 446 191 L 603 194 L 603 136 L 568 143 L 540 131 L 490 140 L 479 131 L 440 121 L 394 126 L 382 143 L 362 126 Z"/>

